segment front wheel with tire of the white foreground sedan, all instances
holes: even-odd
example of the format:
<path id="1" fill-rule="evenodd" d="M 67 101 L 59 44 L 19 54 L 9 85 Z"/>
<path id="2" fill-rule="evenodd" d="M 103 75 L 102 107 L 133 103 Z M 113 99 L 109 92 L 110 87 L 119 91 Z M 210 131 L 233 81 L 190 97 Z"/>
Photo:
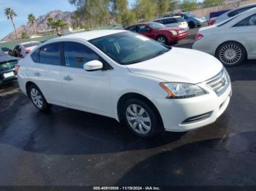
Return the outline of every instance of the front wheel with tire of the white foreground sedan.
<path id="1" fill-rule="evenodd" d="M 132 133 L 143 138 L 155 136 L 160 129 L 157 113 L 146 102 L 137 98 L 131 98 L 124 103 L 121 118 Z"/>

